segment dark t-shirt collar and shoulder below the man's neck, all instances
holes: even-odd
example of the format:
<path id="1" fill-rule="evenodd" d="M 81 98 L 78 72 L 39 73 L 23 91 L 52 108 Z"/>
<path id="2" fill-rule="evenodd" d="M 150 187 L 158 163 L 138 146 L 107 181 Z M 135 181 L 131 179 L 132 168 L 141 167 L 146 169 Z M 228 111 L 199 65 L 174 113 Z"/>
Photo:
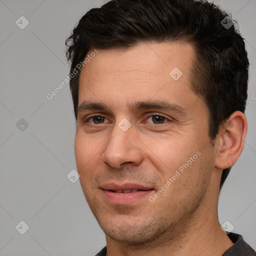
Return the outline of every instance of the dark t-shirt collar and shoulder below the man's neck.
<path id="1" fill-rule="evenodd" d="M 234 243 L 227 249 L 222 256 L 256 256 L 256 252 L 248 245 L 240 234 L 229 233 L 229 239 Z M 95 256 L 105 256 L 106 247 L 99 251 Z"/>

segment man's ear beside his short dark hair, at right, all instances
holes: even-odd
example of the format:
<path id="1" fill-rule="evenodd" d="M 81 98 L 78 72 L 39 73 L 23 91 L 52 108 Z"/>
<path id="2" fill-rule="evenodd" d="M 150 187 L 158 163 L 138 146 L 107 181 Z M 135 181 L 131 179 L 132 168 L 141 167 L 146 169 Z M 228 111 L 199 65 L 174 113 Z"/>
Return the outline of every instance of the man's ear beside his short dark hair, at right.
<path id="1" fill-rule="evenodd" d="M 226 169 L 236 162 L 243 149 L 246 132 L 245 115 L 240 111 L 233 112 L 217 134 L 216 167 Z"/>

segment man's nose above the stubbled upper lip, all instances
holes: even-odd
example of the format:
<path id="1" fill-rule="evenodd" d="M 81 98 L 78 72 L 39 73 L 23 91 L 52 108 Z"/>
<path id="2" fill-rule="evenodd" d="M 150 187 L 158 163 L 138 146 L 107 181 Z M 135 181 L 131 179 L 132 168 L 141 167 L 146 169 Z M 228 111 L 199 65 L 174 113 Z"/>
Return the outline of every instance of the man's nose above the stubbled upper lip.
<path id="1" fill-rule="evenodd" d="M 134 134 L 132 126 L 123 131 L 117 123 L 110 135 L 102 155 L 103 162 L 113 168 L 122 168 L 125 163 L 137 165 L 142 161 L 143 144 Z"/>

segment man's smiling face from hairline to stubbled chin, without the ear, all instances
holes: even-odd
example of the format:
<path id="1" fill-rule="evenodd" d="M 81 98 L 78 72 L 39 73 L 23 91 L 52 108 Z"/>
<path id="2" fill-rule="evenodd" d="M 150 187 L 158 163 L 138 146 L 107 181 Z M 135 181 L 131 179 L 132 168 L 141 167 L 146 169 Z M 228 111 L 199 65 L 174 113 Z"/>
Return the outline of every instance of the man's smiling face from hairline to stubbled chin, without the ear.
<path id="1" fill-rule="evenodd" d="M 179 228 L 205 197 L 215 152 L 206 105 L 190 88 L 193 57 L 188 43 L 141 43 L 99 50 L 81 70 L 76 164 L 112 239 L 153 240 Z"/>

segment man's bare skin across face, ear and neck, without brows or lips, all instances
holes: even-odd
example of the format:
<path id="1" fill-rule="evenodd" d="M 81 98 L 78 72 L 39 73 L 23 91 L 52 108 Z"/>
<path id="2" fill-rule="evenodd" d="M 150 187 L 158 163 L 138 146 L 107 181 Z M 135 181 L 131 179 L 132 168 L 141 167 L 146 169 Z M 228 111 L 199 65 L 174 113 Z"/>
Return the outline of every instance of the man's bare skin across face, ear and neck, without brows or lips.
<path id="1" fill-rule="evenodd" d="M 235 111 L 210 143 L 207 107 L 191 90 L 194 52 L 189 43 L 140 43 L 99 50 L 81 70 L 75 158 L 85 198 L 106 234 L 108 256 L 221 255 L 233 244 L 220 228 L 217 202 L 222 169 L 242 151 L 246 118 Z M 183 73 L 178 80 L 169 75 L 173 67 Z M 129 107 L 148 100 L 178 105 L 184 113 Z M 84 109 L 84 101 L 109 109 Z M 118 126 L 123 118 L 131 124 L 126 131 Z M 151 202 L 149 196 L 198 151 Z M 152 190 L 130 204 L 114 204 L 101 189 L 107 182 Z"/>

